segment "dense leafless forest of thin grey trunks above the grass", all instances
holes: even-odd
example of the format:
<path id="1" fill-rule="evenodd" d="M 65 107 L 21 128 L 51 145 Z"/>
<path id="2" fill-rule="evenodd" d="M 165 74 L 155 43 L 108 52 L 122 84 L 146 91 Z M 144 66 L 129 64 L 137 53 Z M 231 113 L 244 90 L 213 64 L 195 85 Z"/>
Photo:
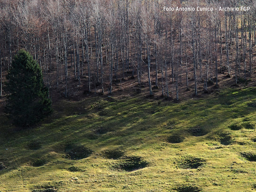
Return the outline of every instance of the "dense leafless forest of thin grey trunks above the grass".
<path id="1" fill-rule="evenodd" d="M 146 90 L 179 100 L 222 82 L 247 85 L 256 73 L 255 11 L 254 0 L 1 0 L 0 94 L 20 49 L 39 63 L 51 98 Z"/>

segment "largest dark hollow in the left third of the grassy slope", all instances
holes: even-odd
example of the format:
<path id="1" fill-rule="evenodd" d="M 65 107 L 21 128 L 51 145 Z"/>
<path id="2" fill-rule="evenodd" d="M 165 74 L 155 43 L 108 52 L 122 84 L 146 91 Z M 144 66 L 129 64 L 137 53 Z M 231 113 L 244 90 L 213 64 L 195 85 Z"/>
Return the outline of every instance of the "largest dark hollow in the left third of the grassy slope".
<path id="1" fill-rule="evenodd" d="M 76 144 L 67 144 L 65 148 L 66 158 L 73 160 L 84 159 L 89 157 L 92 154 L 92 150 Z"/>

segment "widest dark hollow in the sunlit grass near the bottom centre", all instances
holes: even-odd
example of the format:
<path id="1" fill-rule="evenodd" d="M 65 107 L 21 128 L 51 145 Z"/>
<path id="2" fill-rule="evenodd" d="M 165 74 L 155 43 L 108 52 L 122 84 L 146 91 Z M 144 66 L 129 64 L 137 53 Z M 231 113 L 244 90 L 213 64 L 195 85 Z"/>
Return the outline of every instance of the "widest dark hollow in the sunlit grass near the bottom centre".
<path id="1" fill-rule="evenodd" d="M 148 162 L 142 160 L 142 157 L 124 156 L 121 158 L 121 162 L 114 165 L 113 168 L 125 171 L 135 171 L 146 167 L 148 164 Z"/>

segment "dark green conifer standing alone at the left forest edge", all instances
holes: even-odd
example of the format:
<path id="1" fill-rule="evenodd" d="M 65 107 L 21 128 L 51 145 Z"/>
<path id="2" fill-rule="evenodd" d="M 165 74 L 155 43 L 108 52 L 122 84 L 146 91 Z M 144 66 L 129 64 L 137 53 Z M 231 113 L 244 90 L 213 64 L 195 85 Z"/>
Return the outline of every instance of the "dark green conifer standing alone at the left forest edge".
<path id="1" fill-rule="evenodd" d="M 41 69 L 27 51 L 14 56 L 7 80 L 6 110 L 15 125 L 33 125 L 52 112 Z"/>

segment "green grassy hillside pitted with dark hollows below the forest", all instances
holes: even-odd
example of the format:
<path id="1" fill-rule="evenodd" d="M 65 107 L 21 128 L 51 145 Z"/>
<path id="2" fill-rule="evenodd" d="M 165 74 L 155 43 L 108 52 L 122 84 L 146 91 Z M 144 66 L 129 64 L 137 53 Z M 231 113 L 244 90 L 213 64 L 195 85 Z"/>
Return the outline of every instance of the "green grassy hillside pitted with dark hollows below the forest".
<path id="1" fill-rule="evenodd" d="M 180 103 L 99 97 L 54 105 L 41 126 L 0 117 L 0 191 L 256 190 L 256 88 Z"/>

